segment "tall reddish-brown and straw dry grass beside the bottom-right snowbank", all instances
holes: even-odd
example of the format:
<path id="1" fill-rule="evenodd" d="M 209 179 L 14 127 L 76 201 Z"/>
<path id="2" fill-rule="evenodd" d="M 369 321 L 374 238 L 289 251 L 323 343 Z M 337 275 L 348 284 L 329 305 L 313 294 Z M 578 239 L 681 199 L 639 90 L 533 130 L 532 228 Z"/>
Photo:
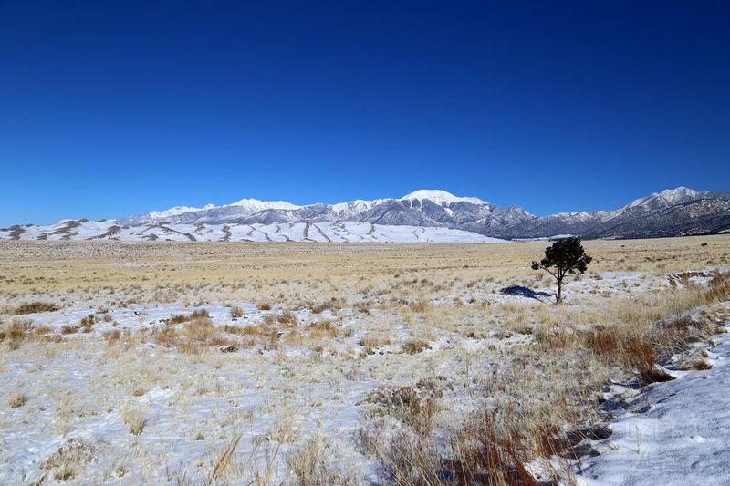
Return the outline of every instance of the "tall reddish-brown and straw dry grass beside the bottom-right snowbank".
<path id="1" fill-rule="evenodd" d="M 513 348 L 512 359 L 500 366 L 505 371 L 485 380 L 487 394 L 503 396 L 497 404 L 470 413 L 461 428 L 438 429 L 427 408 L 411 405 L 422 404 L 420 395 L 402 388 L 393 398 L 381 398 L 381 402 L 398 404 L 385 408 L 385 413 L 399 419 L 401 428 L 391 433 L 377 427 L 360 430 L 362 450 L 381 463 L 384 481 L 396 484 L 440 483 L 444 470 L 464 484 L 572 481 L 568 462 L 558 470 L 548 468 L 549 478 L 534 477 L 527 463 L 579 457 L 567 430 L 599 416 L 595 394 L 610 377 L 617 376 L 616 369 L 636 377 L 641 385 L 673 379 L 661 367 L 664 359 L 712 336 L 724 320 L 695 319 L 683 313 L 698 305 L 727 302 L 729 283 L 728 275 L 717 274 L 707 287 L 644 295 L 632 305 L 616 300 L 598 313 L 584 314 L 580 309 L 579 315 L 572 315 L 573 311 L 561 309 L 557 316 L 550 314 L 549 324 L 536 336 L 537 349 Z M 534 317 L 517 305 L 500 310 L 525 319 Z M 545 307 L 535 313 L 547 315 Z M 596 319 L 610 324 L 591 324 Z M 530 362 L 539 367 L 526 375 Z M 703 360 L 695 360 L 691 366 L 707 369 Z M 543 379 L 546 376 L 549 381 Z M 535 400 L 538 397 L 552 399 L 540 402 Z M 449 444 L 446 450 L 439 446 L 444 437 Z M 586 435 L 572 433 L 572 437 Z"/>

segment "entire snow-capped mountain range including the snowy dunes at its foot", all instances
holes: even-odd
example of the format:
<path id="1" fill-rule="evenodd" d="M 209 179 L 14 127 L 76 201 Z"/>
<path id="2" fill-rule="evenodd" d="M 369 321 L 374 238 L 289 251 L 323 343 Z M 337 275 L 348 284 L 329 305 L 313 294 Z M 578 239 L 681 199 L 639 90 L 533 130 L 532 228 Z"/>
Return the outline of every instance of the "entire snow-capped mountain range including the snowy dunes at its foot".
<path id="1" fill-rule="evenodd" d="M 610 211 L 547 216 L 440 190 L 303 206 L 243 199 L 202 208 L 176 206 L 118 220 L 16 225 L 0 229 L 0 239 L 476 243 L 568 234 L 617 239 L 725 232 L 730 232 L 730 192 L 679 187 Z"/>

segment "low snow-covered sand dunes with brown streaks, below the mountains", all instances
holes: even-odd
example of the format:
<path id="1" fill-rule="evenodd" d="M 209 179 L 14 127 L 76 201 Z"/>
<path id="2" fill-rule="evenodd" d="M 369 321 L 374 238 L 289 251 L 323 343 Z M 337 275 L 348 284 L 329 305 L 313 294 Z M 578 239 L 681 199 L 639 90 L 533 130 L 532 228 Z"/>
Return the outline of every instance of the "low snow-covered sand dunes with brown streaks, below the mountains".
<path id="1" fill-rule="evenodd" d="M 337 242 L 498 243 L 504 240 L 449 228 L 391 226 L 370 222 L 287 222 L 254 224 L 167 224 L 120 226 L 112 220 L 66 220 L 48 226 L 0 230 L 0 240 L 118 240 L 123 242 Z"/>

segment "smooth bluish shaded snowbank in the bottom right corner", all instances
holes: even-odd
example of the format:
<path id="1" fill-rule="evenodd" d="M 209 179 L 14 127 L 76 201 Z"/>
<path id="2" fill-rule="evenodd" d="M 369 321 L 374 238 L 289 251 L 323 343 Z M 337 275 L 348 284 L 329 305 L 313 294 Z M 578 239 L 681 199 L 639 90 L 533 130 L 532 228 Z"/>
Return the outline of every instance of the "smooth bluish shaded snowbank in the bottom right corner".
<path id="1" fill-rule="evenodd" d="M 730 334 L 717 341 L 712 369 L 674 372 L 632 400 L 595 444 L 600 455 L 583 460 L 579 484 L 730 484 Z"/>

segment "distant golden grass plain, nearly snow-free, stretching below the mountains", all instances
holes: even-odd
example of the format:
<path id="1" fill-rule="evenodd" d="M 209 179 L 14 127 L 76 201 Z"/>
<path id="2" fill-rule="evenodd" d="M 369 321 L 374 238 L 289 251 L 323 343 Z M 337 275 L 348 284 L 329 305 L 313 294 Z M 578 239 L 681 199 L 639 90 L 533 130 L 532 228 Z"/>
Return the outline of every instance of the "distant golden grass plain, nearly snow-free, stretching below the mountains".
<path id="1" fill-rule="evenodd" d="M 709 243 L 702 247 L 700 243 Z M 730 238 L 703 236 L 631 241 L 585 242 L 595 261 L 591 274 L 606 271 L 655 272 L 730 264 Z M 113 242 L 0 242 L 0 274 L 6 279 L 0 293 L 27 295 L 81 289 L 89 295 L 105 288 L 139 285 L 140 295 L 182 298 L 188 285 L 220 282 L 221 297 L 231 296 L 224 285 L 252 283 L 242 287 L 246 302 L 271 304 L 272 295 L 287 295 L 292 283 L 307 279 L 326 282 L 318 290 L 328 297 L 358 295 L 372 285 L 387 282 L 398 288 L 428 287 L 435 296 L 450 293 L 433 289 L 443 285 L 443 276 L 458 276 L 464 283 L 500 281 L 514 284 L 536 275 L 526 266 L 543 253 L 545 243 L 504 244 L 349 244 L 255 245 L 241 243 L 136 243 L 133 248 Z M 133 251 L 132 251 L 133 250 Z M 387 258 L 383 258 L 387 255 Z M 17 262 L 25 264 L 21 267 Z M 124 262 L 98 272 L 99 265 Z M 253 264 L 240 265 L 239 262 Z M 139 264 L 139 265 L 138 265 Z M 400 278 L 393 278 L 399 274 Z M 356 276 L 355 279 L 352 277 Z M 358 280 L 364 276 L 362 280 Z M 418 276 L 419 281 L 400 284 Z M 421 284 L 425 277 L 436 285 Z M 266 292 L 252 292 L 256 284 Z M 478 285 L 476 285 L 478 287 Z M 168 295 L 172 289 L 177 295 Z M 178 292 L 179 289 L 179 292 Z M 568 292 L 569 295 L 569 292 Z M 419 300 L 409 295 L 407 302 Z M 320 297 L 321 298 L 321 297 Z M 223 300 L 223 299 L 221 299 Z M 266 304 L 264 304 L 266 303 Z M 304 304 L 304 303 L 302 303 Z"/>

